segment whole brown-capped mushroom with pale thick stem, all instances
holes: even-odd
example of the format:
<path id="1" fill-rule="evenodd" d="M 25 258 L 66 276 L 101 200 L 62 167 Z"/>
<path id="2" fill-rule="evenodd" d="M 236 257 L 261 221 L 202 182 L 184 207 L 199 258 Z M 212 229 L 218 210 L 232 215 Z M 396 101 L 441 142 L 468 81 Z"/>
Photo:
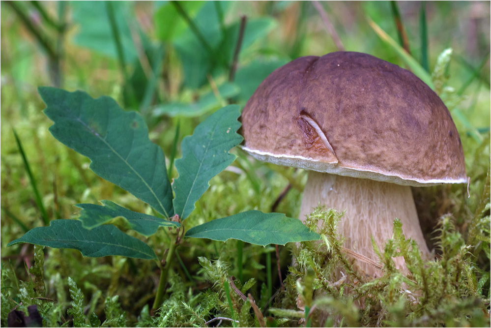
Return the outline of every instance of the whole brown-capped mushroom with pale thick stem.
<path id="1" fill-rule="evenodd" d="M 318 204 L 346 211 L 338 227 L 345 247 L 373 260 L 371 236 L 383 250 L 395 218 L 430 254 L 410 186 L 467 182 L 441 99 L 411 72 L 367 54 L 301 57 L 276 69 L 244 107 L 242 133 L 253 157 L 310 170 L 300 219 Z"/>

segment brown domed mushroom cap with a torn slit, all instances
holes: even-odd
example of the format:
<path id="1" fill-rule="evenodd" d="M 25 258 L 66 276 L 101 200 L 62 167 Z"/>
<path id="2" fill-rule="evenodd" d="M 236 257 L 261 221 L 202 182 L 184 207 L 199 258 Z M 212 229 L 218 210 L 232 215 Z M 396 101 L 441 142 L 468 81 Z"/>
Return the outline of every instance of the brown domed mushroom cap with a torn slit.
<path id="1" fill-rule="evenodd" d="M 463 183 L 448 109 L 411 72 L 335 52 L 276 69 L 242 112 L 252 156 L 275 164 L 402 185 Z"/>

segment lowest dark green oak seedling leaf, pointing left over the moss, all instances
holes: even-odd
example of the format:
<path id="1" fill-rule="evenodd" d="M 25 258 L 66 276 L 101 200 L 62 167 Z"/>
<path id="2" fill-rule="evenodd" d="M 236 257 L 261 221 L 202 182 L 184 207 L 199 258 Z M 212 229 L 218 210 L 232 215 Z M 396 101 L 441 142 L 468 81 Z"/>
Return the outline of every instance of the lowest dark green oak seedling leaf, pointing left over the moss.
<path id="1" fill-rule="evenodd" d="M 155 253 L 143 241 L 123 234 L 113 225 L 104 225 L 92 230 L 82 227 L 78 220 L 54 220 L 49 227 L 29 230 L 7 246 L 21 242 L 53 248 L 73 248 L 82 255 L 100 257 L 121 255 L 138 259 L 156 259 Z"/>

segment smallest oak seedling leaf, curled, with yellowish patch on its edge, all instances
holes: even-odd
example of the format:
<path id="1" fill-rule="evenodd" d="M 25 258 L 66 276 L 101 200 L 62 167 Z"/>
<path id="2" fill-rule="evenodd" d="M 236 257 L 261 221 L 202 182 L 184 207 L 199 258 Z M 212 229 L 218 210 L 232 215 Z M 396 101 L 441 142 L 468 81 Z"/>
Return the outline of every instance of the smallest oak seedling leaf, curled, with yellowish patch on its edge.
<path id="1" fill-rule="evenodd" d="M 126 219 L 130 228 L 136 232 L 148 237 L 157 232 L 159 227 L 180 227 L 177 222 L 166 221 L 153 215 L 134 212 L 119 205 L 102 200 L 104 206 L 94 204 L 77 204 L 81 208 L 79 220 L 86 229 L 93 229 L 103 224 L 108 224 L 118 217 Z"/>

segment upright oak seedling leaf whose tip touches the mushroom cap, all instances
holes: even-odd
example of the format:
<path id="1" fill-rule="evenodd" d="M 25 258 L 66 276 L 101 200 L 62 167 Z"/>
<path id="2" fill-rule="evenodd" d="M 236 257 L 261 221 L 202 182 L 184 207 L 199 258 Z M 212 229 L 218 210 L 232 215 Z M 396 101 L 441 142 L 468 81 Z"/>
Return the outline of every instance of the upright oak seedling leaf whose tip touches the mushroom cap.
<path id="1" fill-rule="evenodd" d="M 179 177 L 174 180 L 175 213 L 184 220 L 194 204 L 208 189 L 209 180 L 229 166 L 237 156 L 229 150 L 242 142 L 236 133 L 240 107 L 219 109 L 196 127 L 192 136 L 182 140 L 182 158 L 175 161 Z"/>

